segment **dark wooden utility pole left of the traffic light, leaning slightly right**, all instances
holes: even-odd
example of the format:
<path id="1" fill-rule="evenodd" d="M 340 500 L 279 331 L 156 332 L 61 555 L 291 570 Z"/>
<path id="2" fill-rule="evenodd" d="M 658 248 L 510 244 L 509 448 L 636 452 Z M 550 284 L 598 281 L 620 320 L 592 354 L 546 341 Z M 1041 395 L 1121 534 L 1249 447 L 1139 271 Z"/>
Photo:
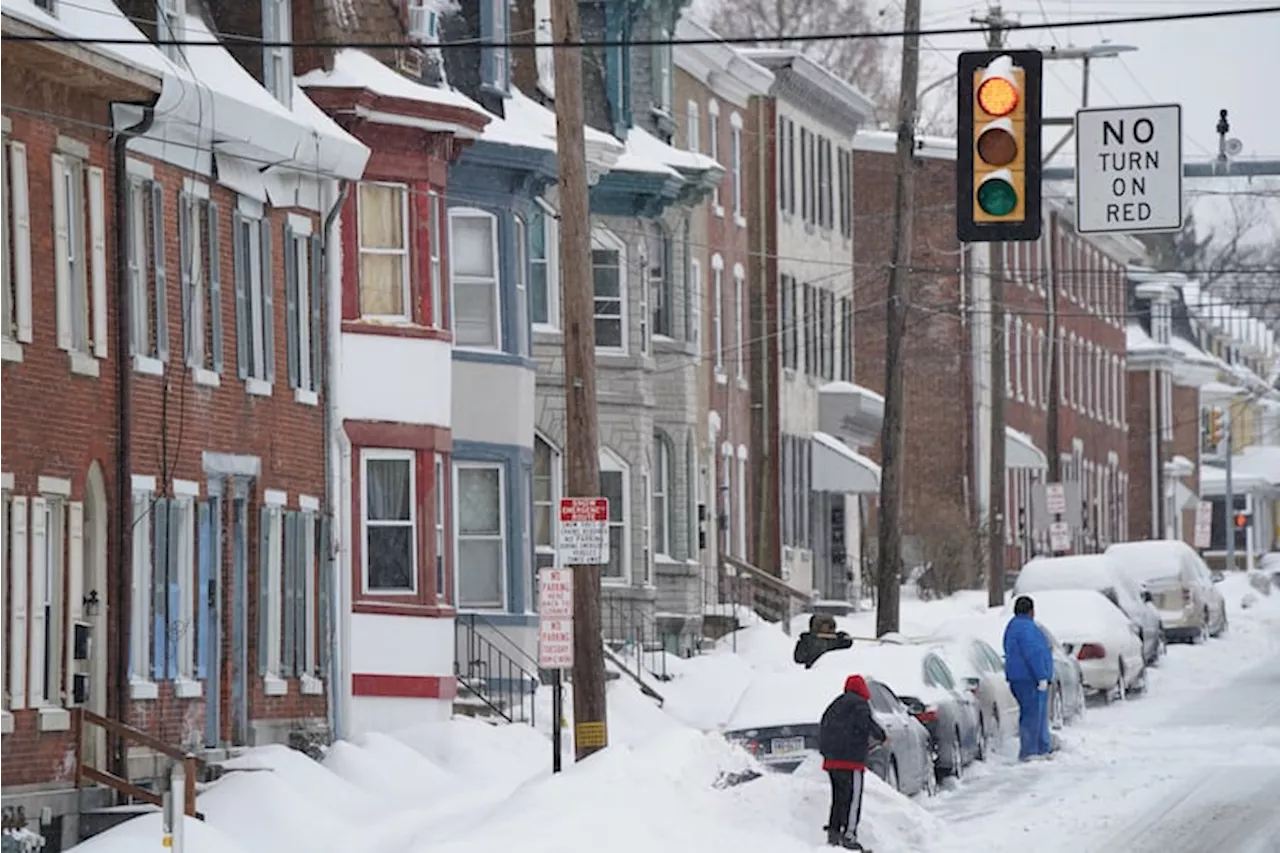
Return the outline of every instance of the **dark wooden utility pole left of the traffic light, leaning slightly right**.
<path id="1" fill-rule="evenodd" d="M 902 15 L 902 78 L 897 96 L 893 158 L 893 268 L 884 306 L 884 424 L 881 429 L 879 571 L 876 578 L 876 635 L 899 630 L 902 570 L 902 429 L 906 407 L 908 283 L 911 274 L 911 219 L 915 204 L 915 111 L 920 79 L 920 0 L 906 0 Z"/>

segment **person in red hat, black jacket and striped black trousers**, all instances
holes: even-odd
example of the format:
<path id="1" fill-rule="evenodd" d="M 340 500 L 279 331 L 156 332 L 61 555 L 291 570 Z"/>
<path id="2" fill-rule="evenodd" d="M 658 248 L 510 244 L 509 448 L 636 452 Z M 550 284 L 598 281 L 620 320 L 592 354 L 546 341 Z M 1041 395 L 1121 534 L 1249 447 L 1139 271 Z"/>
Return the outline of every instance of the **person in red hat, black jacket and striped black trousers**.
<path id="1" fill-rule="evenodd" d="M 860 675 L 845 679 L 845 692 L 827 706 L 818 729 L 822 768 L 831 777 L 831 816 L 827 844 L 849 850 L 864 849 L 858 843 L 858 824 L 863 817 L 863 780 L 870 744 L 888 736 L 872 716 L 870 690 Z"/>

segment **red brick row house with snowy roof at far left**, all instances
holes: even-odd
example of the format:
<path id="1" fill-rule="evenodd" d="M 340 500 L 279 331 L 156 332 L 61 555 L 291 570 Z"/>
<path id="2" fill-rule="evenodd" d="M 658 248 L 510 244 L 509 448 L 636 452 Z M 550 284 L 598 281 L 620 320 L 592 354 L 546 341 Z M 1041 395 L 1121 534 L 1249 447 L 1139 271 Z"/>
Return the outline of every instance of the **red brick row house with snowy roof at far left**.
<path id="1" fill-rule="evenodd" d="M 0 12 L 141 42 L 0 59 L 0 804 L 56 844 L 77 760 L 154 766 L 74 708 L 191 751 L 329 729 L 325 222 L 369 156 L 211 35 L 287 41 L 288 4 L 90 5 Z"/>

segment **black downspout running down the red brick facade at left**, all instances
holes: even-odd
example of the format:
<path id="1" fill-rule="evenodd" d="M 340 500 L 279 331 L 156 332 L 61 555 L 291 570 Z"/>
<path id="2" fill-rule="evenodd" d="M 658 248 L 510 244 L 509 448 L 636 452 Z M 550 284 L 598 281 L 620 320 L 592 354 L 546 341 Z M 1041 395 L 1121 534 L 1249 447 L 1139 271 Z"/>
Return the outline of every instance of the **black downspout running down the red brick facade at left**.
<path id="1" fill-rule="evenodd" d="M 123 223 L 129 220 L 129 199 L 124 192 L 128 186 L 128 146 L 129 141 L 151 129 L 155 122 L 155 105 L 142 106 L 142 118 L 137 124 L 115 131 L 111 136 L 113 182 L 115 190 L 115 382 L 116 382 L 116 453 L 115 453 L 115 719 L 128 721 L 129 712 L 129 624 L 132 621 L 131 573 L 133 565 L 133 370 L 129 364 L 129 323 L 133 316 L 132 293 L 129 292 L 129 229 Z M 111 751 L 111 765 L 116 775 L 125 775 L 125 745 L 123 738 L 115 738 Z"/>

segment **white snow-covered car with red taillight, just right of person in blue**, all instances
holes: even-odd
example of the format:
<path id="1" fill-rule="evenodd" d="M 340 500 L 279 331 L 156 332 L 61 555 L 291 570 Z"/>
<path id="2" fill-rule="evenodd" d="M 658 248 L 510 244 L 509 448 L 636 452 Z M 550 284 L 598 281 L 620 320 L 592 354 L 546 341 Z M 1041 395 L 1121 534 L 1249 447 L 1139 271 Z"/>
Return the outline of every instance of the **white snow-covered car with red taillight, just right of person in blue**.
<path id="1" fill-rule="evenodd" d="M 1147 685 L 1138 626 L 1096 589 L 1046 589 L 1032 596 L 1036 621 L 1047 626 L 1080 663 L 1084 686 L 1103 699 L 1125 698 Z M 1014 605 L 1005 607 L 1012 619 Z"/>

